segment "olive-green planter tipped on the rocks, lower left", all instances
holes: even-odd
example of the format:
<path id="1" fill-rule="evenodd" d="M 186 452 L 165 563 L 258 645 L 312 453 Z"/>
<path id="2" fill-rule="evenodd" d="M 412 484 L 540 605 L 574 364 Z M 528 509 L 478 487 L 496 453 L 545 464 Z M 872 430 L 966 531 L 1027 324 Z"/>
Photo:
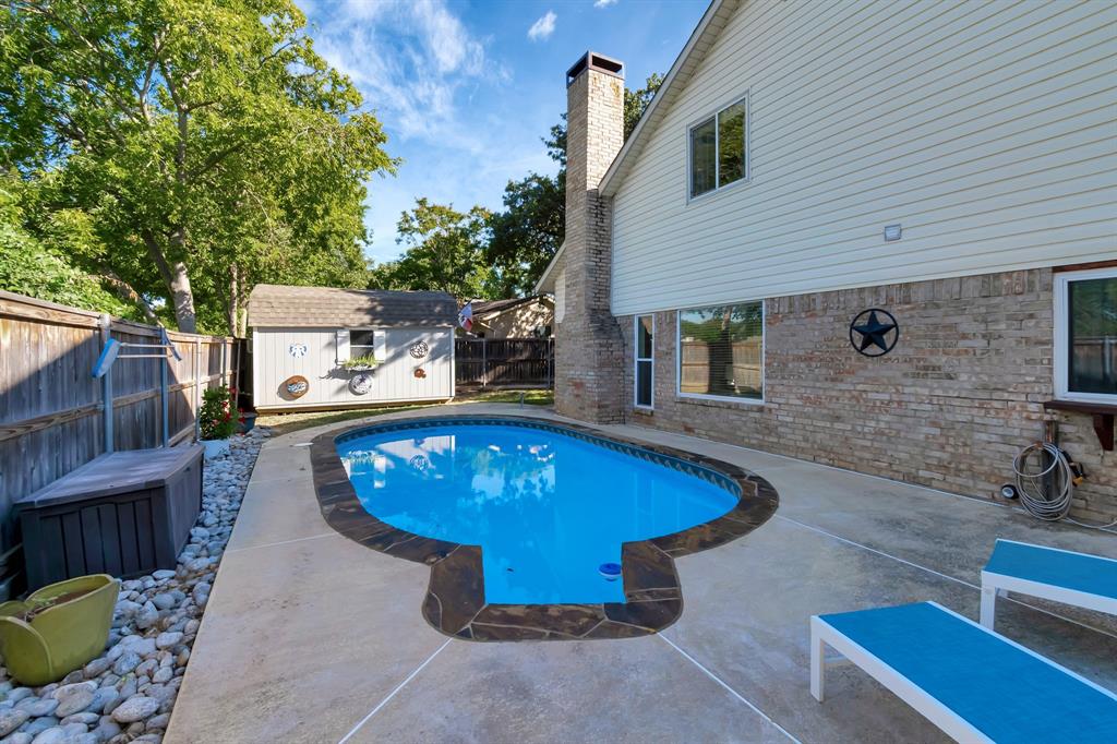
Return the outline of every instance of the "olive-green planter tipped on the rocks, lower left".
<path id="1" fill-rule="evenodd" d="M 30 622 L 17 616 L 42 600 L 85 592 L 42 610 Z M 61 679 L 105 650 L 120 586 L 105 573 L 49 584 L 26 600 L 0 604 L 0 652 L 8 673 L 37 687 Z M 38 601 L 37 601 L 38 600 Z"/>

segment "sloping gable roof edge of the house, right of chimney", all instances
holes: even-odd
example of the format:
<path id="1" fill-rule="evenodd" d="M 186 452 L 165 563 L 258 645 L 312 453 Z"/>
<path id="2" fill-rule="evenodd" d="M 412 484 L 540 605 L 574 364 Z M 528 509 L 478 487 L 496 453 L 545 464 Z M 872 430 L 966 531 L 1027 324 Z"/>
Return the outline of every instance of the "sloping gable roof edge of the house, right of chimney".
<path id="1" fill-rule="evenodd" d="M 624 180 L 624 177 L 628 175 L 640 151 L 643 150 L 648 137 L 656 130 L 656 125 L 662 121 L 671 103 L 687 87 L 687 83 L 694 76 L 698 65 L 705 59 L 706 53 L 714 46 L 717 36 L 729 22 L 733 11 L 739 4 L 741 0 L 714 0 L 709 3 L 706 13 L 698 21 L 698 26 L 690 34 L 686 46 L 682 47 L 682 51 L 679 53 L 675 64 L 671 65 L 667 77 L 663 78 L 663 84 L 656 93 L 656 97 L 648 104 L 648 108 L 645 109 L 636 128 L 632 130 L 632 134 L 626 140 L 624 146 L 617 153 L 612 165 L 609 166 L 604 178 L 601 179 L 598 190 L 602 195 L 612 197 L 617 193 L 617 189 Z"/>

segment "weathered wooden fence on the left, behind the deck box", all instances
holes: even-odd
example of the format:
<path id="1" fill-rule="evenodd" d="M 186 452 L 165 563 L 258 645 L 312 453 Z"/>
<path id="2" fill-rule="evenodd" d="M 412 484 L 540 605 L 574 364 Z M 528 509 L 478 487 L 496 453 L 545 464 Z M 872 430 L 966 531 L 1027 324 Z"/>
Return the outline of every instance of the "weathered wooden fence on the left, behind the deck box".
<path id="1" fill-rule="evenodd" d="M 162 359 L 118 359 L 112 427 L 104 384 L 92 375 L 107 338 L 159 343 L 161 330 L 89 311 L 0 292 L 0 550 L 18 538 L 11 505 L 106 450 L 159 447 L 163 440 Z M 236 385 L 240 344 L 222 336 L 170 332 L 181 360 L 168 366 L 171 445 L 194 437 L 201 391 Z M 126 349 L 126 347 L 125 347 Z M 137 352 L 140 350 L 136 350 Z M 146 353 L 157 350 L 146 350 Z M 0 559 L 0 571 L 3 560 Z"/>

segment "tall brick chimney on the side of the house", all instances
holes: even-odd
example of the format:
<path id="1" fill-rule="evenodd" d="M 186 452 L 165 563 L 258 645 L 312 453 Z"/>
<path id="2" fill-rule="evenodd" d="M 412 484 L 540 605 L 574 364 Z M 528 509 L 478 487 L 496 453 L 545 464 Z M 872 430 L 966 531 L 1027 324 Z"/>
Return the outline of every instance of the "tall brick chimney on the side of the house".
<path id="1" fill-rule="evenodd" d="M 566 73 L 566 240 L 556 279 L 565 312 L 555 334 L 555 409 L 596 423 L 623 420 L 623 338 L 609 308 L 612 204 L 598 193 L 623 143 L 624 66 L 589 51 Z"/>

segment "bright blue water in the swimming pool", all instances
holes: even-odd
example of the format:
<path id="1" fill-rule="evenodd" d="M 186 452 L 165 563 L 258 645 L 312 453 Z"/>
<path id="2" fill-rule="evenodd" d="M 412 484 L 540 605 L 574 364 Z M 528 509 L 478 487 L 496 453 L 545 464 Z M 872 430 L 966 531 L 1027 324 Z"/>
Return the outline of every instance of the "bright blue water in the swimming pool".
<path id="1" fill-rule="evenodd" d="M 495 604 L 623 602 L 621 543 L 687 530 L 737 503 L 694 475 L 557 431 L 439 423 L 337 445 L 364 508 L 419 535 L 480 545 Z M 608 572 L 608 571 L 607 571 Z"/>

